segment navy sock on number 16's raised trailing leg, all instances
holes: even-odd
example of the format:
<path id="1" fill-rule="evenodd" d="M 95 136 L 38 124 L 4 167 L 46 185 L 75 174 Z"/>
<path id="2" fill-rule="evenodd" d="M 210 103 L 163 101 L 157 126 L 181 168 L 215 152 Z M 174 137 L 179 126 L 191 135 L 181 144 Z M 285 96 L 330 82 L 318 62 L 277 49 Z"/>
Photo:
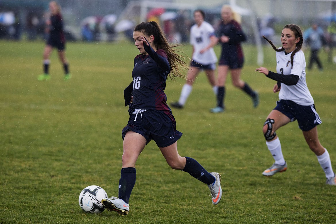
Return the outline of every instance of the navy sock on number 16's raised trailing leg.
<path id="1" fill-rule="evenodd" d="M 200 180 L 207 185 L 213 184 L 213 182 L 215 182 L 215 177 L 212 176 L 208 171 L 206 171 L 200 163 L 198 163 L 193 158 L 185 158 L 187 159 L 187 161 L 182 171 L 189 173 L 191 176 L 195 177 L 197 180 Z"/>

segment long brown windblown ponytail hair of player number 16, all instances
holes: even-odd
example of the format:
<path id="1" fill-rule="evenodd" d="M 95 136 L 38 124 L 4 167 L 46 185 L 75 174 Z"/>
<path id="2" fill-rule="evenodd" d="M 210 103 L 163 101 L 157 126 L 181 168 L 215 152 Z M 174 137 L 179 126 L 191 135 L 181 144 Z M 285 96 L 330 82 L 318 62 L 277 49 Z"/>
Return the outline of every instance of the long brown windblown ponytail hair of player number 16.
<path id="1" fill-rule="evenodd" d="M 177 52 L 179 53 L 183 53 L 183 52 L 173 49 L 174 47 L 177 47 L 180 45 L 178 44 L 170 45 L 163 30 L 160 28 L 160 26 L 156 22 L 154 21 L 147 22 L 147 23 L 142 22 L 134 28 L 134 31 L 142 32 L 148 37 L 151 35 L 155 37 L 154 44 L 155 44 L 156 49 L 163 49 L 168 56 L 168 62 L 171 67 L 171 70 L 168 75 L 171 79 L 174 79 L 175 77 L 185 78 L 185 75 L 182 74 L 182 71 L 188 68 L 188 65 L 185 63 L 185 60 L 184 60 L 185 58 L 181 54 L 177 53 Z"/>

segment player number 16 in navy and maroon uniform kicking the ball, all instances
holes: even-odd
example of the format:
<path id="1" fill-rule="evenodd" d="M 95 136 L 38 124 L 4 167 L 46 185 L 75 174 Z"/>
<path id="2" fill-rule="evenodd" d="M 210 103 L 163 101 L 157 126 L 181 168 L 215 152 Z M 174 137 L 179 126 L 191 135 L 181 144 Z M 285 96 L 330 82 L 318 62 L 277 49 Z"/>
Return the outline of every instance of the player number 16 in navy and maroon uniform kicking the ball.
<path id="1" fill-rule="evenodd" d="M 135 46 L 140 54 L 134 59 L 133 81 L 124 90 L 125 105 L 129 106 L 129 120 L 122 130 L 123 155 L 119 180 L 119 196 L 102 199 L 103 205 L 121 215 L 129 213 L 129 198 L 135 184 L 135 163 L 145 145 L 152 139 L 160 148 L 167 163 L 207 184 L 212 203 L 222 195 L 220 175 L 209 173 L 195 159 L 181 157 L 177 140 L 182 133 L 176 130 L 174 116 L 164 93 L 166 79 L 180 76 L 183 58 L 173 50 L 156 22 L 141 23 L 133 32 Z"/>

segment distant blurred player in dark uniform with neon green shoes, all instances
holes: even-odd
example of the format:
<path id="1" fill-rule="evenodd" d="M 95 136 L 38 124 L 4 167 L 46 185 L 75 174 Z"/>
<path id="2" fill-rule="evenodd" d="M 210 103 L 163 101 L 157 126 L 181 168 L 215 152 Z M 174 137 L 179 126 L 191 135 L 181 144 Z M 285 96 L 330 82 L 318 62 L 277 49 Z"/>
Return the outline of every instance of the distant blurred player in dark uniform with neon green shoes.
<path id="1" fill-rule="evenodd" d="M 50 20 L 47 20 L 47 32 L 48 39 L 47 44 L 44 48 L 43 53 L 43 71 L 42 75 L 38 76 L 38 80 L 49 80 L 49 64 L 50 64 L 50 54 L 52 49 L 55 47 L 58 50 L 58 57 L 61 63 L 63 64 L 65 76 L 64 79 L 68 80 L 71 78 L 69 73 L 69 64 L 65 57 L 65 36 L 63 31 L 63 20 L 60 13 L 60 6 L 55 1 L 49 3 L 49 9 L 51 12 Z"/>

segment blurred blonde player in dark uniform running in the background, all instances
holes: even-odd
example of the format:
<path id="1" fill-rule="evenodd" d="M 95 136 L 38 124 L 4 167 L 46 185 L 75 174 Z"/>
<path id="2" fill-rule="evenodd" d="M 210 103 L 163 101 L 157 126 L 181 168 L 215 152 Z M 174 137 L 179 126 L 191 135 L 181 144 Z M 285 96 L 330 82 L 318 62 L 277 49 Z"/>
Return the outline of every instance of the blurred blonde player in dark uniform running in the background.
<path id="1" fill-rule="evenodd" d="M 244 55 L 240 43 L 246 40 L 246 36 L 239 24 L 238 14 L 229 5 L 223 5 L 221 17 L 222 23 L 217 32 L 217 37 L 222 45 L 218 62 L 217 106 L 210 111 L 212 113 L 221 113 L 225 110 L 225 82 L 229 70 L 231 71 L 233 85 L 248 94 L 252 98 L 253 107 L 257 107 L 259 104 L 258 93 L 240 79 L 244 63 Z"/>

